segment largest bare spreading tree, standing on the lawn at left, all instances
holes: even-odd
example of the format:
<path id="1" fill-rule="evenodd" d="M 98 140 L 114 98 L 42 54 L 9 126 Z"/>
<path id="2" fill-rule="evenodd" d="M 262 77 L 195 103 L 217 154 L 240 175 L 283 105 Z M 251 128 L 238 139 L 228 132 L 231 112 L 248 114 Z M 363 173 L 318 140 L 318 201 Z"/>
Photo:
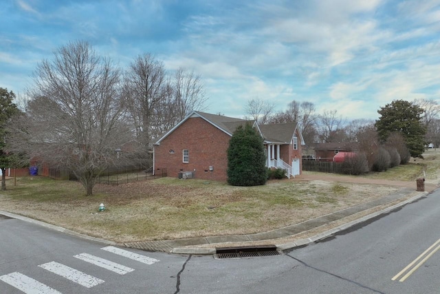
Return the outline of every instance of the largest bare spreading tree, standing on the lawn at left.
<path id="1" fill-rule="evenodd" d="M 34 72 L 27 112 L 12 132 L 12 149 L 72 171 L 91 195 L 131 134 L 120 128 L 120 71 L 84 41 L 69 43 Z"/>

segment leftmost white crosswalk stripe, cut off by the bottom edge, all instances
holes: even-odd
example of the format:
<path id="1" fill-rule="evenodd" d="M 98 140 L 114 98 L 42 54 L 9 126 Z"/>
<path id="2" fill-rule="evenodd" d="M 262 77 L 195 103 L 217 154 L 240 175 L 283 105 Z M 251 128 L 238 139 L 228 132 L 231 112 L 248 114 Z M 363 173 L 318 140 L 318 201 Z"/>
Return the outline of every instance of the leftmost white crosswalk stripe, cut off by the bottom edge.
<path id="1" fill-rule="evenodd" d="M 50 288 L 50 286 L 46 286 L 45 284 L 32 279 L 32 277 L 28 277 L 17 271 L 14 273 L 8 273 L 8 275 L 2 275 L 0 280 L 26 294 L 61 294 L 55 289 Z"/>

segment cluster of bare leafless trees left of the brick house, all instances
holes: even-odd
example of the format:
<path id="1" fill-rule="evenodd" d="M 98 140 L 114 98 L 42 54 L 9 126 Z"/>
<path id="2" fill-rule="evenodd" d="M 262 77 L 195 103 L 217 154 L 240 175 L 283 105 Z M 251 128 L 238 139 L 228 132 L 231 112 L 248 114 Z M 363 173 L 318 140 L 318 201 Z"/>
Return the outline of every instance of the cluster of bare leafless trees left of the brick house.
<path id="1" fill-rule="evenodd" d="M 110 166 L 151 167 L 153 139 L 207 100 L 190 70 L 169 73 L 148 53 L 122 69 L 85 41 L 58 48 L 32 79 L 30 100 L 8 124 L 8 152 L 68 169 L 87 195 Z"/>

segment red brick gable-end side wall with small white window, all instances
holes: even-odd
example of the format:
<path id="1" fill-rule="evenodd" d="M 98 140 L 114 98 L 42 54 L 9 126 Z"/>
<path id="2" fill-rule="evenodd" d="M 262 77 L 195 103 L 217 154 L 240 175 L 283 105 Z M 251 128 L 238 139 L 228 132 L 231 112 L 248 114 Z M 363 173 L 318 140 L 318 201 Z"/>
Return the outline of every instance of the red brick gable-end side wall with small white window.
<path id="1" fill-rule="evenodd" d="M 166 168 L 168 176 L 177 178 L 179 171 L 195 170 L 195 178 L 225 181 L 230 138 L 203 118 L 188 118 L 155 146 L 155 172 Z M 188 163 L 183 162 L 184 149 L 189 151 Z M 212 172 L 210 166 L 214 168 Z"/>

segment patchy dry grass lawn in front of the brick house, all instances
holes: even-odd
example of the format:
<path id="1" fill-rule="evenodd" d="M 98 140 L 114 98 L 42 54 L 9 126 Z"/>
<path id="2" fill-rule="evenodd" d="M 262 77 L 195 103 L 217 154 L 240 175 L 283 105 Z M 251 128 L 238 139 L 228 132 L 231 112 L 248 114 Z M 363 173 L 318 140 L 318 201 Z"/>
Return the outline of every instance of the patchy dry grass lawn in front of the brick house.
<path id="1" fill-rule="evenodd" d="M 33 179 L 33 180 L 32 180 Z M 116 242 L 269 231 L 380 198 L 394 187 L 314 180 L 270 181 L 258 187 L 161 178 L 96 185 L 41 177 L 8 182 L 0 209 Z M 98 213 L 103 202 L 106 211 Z"/>

